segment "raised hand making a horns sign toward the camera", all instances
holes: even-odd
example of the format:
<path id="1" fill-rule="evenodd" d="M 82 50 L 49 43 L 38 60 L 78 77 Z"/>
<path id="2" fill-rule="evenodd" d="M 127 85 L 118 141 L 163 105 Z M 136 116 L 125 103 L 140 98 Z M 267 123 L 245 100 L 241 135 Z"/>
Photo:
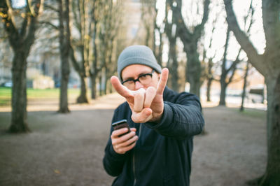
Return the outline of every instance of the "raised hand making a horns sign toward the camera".
<path id="1" fill-rule="evenodd" d="M 125 97 L 132 110 L 132 120 L 136 123 L 158 122 L 163 113 L 163 91 L 168 80 L 168 69 L 162 69 L 158 86 L 141 88 L 137 91 L 129 90 L 120 83 L 118 77 L 113 76 L 111 83 L 121 96 Z"/>

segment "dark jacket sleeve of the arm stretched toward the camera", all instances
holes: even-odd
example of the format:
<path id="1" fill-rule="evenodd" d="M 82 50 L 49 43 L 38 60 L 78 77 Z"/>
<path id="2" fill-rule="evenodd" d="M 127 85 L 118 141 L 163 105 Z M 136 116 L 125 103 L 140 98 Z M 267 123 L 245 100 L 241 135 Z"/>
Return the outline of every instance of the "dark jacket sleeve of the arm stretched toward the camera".
<path id="1" fill-rule="evenodd" d="M 184 92 L 172 102 L 165 101 L 159 123 L 147 122 L 146 126 L 172 138 L 183 139 L 200 134 L 204 127 L 204 118 L 197 96 Z"/>

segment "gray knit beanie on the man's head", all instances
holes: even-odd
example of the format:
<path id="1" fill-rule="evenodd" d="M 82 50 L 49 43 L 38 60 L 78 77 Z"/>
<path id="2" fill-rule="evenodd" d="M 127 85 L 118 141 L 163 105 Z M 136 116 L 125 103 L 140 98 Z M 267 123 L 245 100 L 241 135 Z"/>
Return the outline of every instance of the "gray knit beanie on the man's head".
<path id="1" fill-rule="evenodd" d="M 144 64 L 158 73 L 162 72 L 162 68 L 155 59 L 153 51 L 145 45 L 132 45 L 120 53 L 118 57 L 118 77 L 120 80 L 123 80 L 121 77 L 123 69 L 131 64 Z"/>

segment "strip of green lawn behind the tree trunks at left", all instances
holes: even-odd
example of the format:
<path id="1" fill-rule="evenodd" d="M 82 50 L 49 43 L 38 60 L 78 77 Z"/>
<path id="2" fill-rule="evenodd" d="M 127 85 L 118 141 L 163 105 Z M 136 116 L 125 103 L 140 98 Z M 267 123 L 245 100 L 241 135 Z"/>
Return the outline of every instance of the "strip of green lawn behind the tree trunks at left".
<path id="1" fill-rule="evenodd" d="M 69 98 L 76 98 L 80 94 L 80 89 L 69 89 Z M 0 87 L 0 106 L 10 106 L 12 89 Z M 59 89 L 27 89 L 27 99 L 59 99 Z"/>

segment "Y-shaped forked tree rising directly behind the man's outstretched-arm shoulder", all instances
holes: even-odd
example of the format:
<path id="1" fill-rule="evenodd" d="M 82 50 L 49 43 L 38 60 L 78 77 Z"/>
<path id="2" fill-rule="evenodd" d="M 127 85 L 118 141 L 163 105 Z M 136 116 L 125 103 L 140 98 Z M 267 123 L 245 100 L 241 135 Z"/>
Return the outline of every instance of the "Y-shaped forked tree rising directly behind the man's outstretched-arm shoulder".
<path id="1" fill-rule="evenodd" d="M 176 17 L 177 34 L 181 38 L 183 50 L 187 54 L 186 80 L 190 83 L 190 92 L 197 96 L 200 96 L 200 76 L 202 71 L 199 53 L 197 52 L 197 43 L 202 36 L 204 24 L 208 20 L 209 3 L 209 0 L 204 0 L 202 21 L 200 24 L 193 26 L 193 28 L 188 28 L 184 22 L 181 14 L 182 1 L 177 0 L 170 4 L 172 12 Z"/>

